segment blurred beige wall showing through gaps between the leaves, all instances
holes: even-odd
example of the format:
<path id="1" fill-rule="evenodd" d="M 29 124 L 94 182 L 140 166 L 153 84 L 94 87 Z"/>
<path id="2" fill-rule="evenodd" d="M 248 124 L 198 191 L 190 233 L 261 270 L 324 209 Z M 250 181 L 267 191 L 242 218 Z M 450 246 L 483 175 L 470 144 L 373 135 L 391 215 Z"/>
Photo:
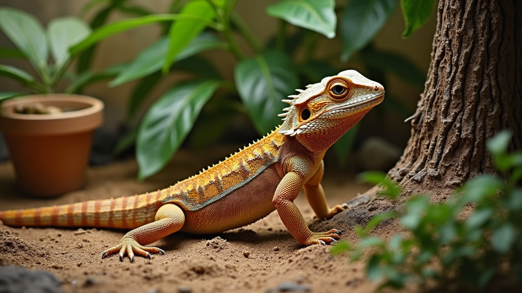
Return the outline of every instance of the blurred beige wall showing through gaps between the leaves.
<path id="1" fill-rule="evenodd" d="M 84 7 L 88 2 L 87 0 L 0 0 L 0 6 L 10 6 L 25 10 L 37 17 L 44 26 L 46 26 L 46 23 L 52 18 L 65 15 L 76 15 L 89 21 L 92 18 L 92 11 L 96 11 L 96 9 L 91 9 L 88 13 L 85 13 Z M 168 10 L 170 2 L 170 0 L 133 1 L 133 3 L 145 6 L 155 13 L 165 13 L 165 11 Z M 278 23 L 276 19 L 269 17 L 265 11 L 268 5 L 275 2 L 277 1 L 242 0 L 238 2 L 235 9 L 260 39 L 267 40 L 269 36 L 277 30 Z M 338 3 L 341 3 L 341 1 L 338 1 Z M 126 17 L 127 16 L 116 13 L 111 16 L 110 21 Z M 427 71 L 430 63 L 431 42 L 435 31 L 435 15 L 433 14 L 428 23 L 409 39 L 401 38 L 402 30 L 404 30 L 404 21 L 402 20 L 400 5 L 397 5 L 391 19 L 377 34 L 375 45 L 383 50 L 403 54 L 409 57 L 422 70 Z M 157 40 L 159 34 L 159 27 L 151 25 L 120 33 L 106 39 L 98 47 L 94 58 L 94 70 L 100 70 L 134 59 L 140 50 L 143 50 L 143 48 Z M 4 35 L 0 34 L 0 46 L 12 46 L 12 44 Z M 321 46 L 317 54 L 328 55 L 329 52 L 338 50 L 340 50 L 339 42 L 334 42 L 334 45 L 329 42 L 327 45 Z M 220 58 L 215 58 L 214 60 L 217 60 L 216 65 L 218 66 L 218 70 L 232 80 L 232 69 L 235 63 L 234 58 L 227 52 L 213 52 L 212 54 L 222 55 Z M 5 60 L 0 60 L 0 63 L 4 62 Z M 13 62 L 9 63 L 12 64 Z M 16 62 L 16 64 L 20 65 L 22 62 Z M 352 67 L 357 68 L 357 62 L 339 64 L 339 68 L 348 69 Z M 25 68 L 30 70 L 29 66 Z M 155 92 L 153 92 L 151 98 L 154 99 L 158 97 L 165 89 L 172 85 L 174 79 L 175 77 L 173 76 L 165 78 Z M 125 84 L 117 88 L 109 88 L 105 84 L 96 84 L 86 89 L 86 94 L 96 96 L 104 101 L 106 105 L 105 127 L 114 129 L 124 120 L 126 104 L 132 87 L 133 83 Z M 18 84 L 6 79 L 0 79 L 0 91 L 17 89 L 19 89 Z M 386 91 L 398 97 L 411 113 L 414 112 L 420 94 L 418 89 L 412 88 L 407 83 L 390 77 L 386 84 Z M 385 119 L 389 121 L 389 123 L 383 124 L 382 120 L 374 119 L 373 125 L 371 122 L 365 124 L 370 125 L 368 126 L 370 128 L 378 128 L 379 132 L 390 133 L 389 140 L 398 145 L 404 145 L 409 137 L 409 124 L 404 123 L 402 121 L 403 118 L 395 113 L 387 113 L 386 116 Z M 370 132 L 373 131 L 370 130 Z"/>

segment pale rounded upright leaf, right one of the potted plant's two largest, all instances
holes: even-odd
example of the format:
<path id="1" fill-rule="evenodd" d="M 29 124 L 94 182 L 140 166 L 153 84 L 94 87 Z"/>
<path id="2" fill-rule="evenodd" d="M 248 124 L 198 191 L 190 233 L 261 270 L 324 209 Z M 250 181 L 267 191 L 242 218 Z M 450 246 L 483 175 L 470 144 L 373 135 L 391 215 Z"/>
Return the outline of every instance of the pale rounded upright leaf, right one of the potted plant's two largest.
<path id="1" fill-rule="evenodd" d="M 69 47 L 79 43 L 90 33 L 89 25 L 77 17 L 58 17 L 49 22 L 47 37 L 57 68 L 61 68 L 69 60 Z"/>

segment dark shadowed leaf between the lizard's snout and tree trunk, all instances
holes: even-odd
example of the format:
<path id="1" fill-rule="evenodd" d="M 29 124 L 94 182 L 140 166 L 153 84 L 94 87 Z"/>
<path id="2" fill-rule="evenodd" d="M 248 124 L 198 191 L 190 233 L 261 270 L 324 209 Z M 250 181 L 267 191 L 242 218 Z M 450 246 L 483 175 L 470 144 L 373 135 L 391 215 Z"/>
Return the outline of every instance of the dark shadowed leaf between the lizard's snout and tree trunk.
<path id="1" fill-rule="evenodd" d="M 394 52 L 363 50 L 361 51 L 361 58 L 367 65 L 390 72 L 420 89 L 424 88 L 426 72 L 420 70 L 405 56 Z"/>

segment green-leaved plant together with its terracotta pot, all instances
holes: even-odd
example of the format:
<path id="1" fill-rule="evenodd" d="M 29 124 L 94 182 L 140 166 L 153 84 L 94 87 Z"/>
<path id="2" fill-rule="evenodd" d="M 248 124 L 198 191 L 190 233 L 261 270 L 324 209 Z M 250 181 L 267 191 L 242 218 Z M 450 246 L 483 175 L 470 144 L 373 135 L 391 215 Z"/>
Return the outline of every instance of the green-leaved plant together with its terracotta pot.
<path id="1" fill-rule="evenodd" d="M 50 21 L 45 31 L 33 16 L 0 7 L 0 29 L 17 47 L 3 48 L 0 57 L 27 59 L 36 73 L 33 77 L 0 64 L 0 75 L 21 82 L 28 90 L 0 92 L 0 130 L 20 190 L 51 197 L 81 188 L 92 134 L 102 123 L 103 103 L 73 94 L 92 80 L 87 72 L 69 82 L 62 93 L 58 89 L 65 86 L 67 74 L 72 76 L 67 72 L 73 59 L 69 47 L 91 33 L 89 26 L 75 17 L 61 17 Z"/>

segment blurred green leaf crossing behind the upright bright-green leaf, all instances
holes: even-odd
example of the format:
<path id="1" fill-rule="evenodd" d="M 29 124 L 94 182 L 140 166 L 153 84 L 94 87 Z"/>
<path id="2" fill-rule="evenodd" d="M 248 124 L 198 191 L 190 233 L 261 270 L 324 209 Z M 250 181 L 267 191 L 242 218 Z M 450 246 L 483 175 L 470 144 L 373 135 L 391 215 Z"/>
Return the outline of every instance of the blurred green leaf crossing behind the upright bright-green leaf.
<path id="1" fill-rule="evenodd" d="M 215 35 L 210 33 L 200 34 L 176 56 L 176 61 L 217 47 L 224 47 L 224 43 Z M 160 70 L 168 48 L 169 39 L 167 37 L 161 38 L 142 51 L 138 57 L 128 65 L 126 70 L 123 70 L 115 80 L 111 81 L 110 86 L 119 86 L 125 82 L 144 77 Z"/>

